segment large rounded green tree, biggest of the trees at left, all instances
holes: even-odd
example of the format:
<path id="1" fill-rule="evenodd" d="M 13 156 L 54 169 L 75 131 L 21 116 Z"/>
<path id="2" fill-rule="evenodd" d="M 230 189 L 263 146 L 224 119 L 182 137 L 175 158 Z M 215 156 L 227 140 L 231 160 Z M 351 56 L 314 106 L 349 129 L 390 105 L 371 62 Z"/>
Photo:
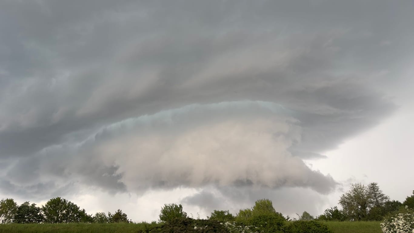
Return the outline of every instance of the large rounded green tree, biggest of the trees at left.
<path id="1" fill-rule="evenodd" d="M 61 197 L 50 199 L 42 206 L 42 211 L 47 223 L 78 223 L 86 218 L 84 210 Z"/>

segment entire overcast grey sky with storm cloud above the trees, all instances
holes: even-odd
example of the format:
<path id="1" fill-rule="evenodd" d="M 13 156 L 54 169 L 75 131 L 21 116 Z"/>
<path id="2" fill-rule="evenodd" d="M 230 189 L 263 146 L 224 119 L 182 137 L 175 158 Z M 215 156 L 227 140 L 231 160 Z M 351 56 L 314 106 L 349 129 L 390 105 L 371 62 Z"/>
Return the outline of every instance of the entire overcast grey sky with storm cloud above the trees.
<path id="1" fill-rule="evenodd" d="M 414 2 L 0 0 L 0 199 L 205 218 L 414 189 Z"/>

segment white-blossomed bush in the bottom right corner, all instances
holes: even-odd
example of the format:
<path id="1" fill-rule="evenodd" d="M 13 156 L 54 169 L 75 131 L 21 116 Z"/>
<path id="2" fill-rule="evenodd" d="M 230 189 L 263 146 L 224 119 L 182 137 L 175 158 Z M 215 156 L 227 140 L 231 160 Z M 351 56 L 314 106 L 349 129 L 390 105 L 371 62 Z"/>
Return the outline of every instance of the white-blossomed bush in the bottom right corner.
<path id="1" fill-rule="evenodd" d="M 381 223 L 383 233 L 414 233 L 414 210 L 405 207 Z"/>

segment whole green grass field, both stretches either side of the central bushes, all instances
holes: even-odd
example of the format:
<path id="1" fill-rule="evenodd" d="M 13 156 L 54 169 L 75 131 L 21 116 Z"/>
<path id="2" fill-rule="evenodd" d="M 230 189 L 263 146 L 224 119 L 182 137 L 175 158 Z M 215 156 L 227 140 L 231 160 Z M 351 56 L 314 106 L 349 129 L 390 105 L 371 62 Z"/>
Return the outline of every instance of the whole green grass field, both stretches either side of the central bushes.
<path id="1" fill-rule="evenodd" d="M 380 222 L 325 222 L 334 233 L 382 233 Z M 136 233 L 144 223 L 0 224 L 0 233 Z"/>

